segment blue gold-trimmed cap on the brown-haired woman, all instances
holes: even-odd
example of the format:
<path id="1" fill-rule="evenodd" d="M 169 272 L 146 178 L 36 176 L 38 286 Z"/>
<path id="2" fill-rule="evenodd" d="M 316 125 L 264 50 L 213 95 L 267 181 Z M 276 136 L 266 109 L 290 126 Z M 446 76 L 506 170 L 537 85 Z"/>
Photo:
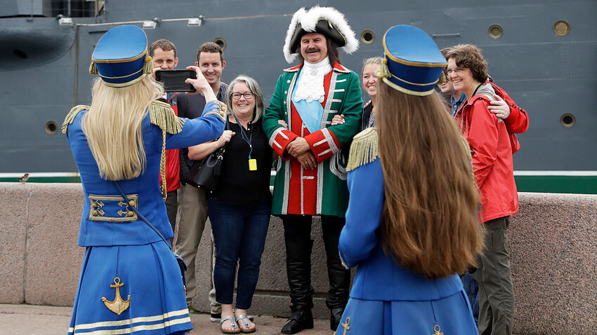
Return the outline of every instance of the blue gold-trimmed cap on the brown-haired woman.
<path id="1" fill-rule="evenodd" d="M 396 25 L 383 35 L 383 63 L 377 76 L 408 95 L 430 95 L 435 90 L 446 59 L 423 30 Z"/>

